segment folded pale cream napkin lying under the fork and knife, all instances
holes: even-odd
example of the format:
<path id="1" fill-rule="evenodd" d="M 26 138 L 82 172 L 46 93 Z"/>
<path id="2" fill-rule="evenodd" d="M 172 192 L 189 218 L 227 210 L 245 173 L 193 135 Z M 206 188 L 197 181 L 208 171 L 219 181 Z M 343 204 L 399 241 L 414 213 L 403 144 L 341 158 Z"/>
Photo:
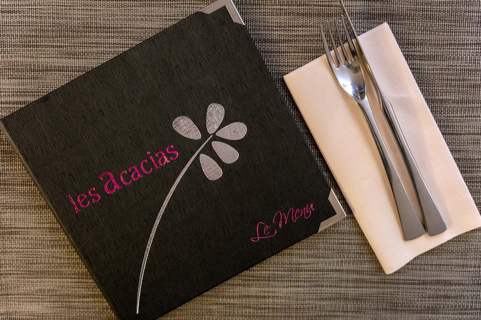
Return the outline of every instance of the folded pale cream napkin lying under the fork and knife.
<path id="1" fill-rule="evenodd" d="M 481 226 L 481 217 L 389 25 L 381 24 L 359 38 L 443 214 L 447 230 L 442 234 L 403 240 L 389 181 L 366 121 L 336 83 L 325 55 L 285 75 L 284 80 L 384 272 L 393 273 L 419 254 Z M 378 101 L 371 96 L 370 102 L 394 164 L 418 208 Z"/>

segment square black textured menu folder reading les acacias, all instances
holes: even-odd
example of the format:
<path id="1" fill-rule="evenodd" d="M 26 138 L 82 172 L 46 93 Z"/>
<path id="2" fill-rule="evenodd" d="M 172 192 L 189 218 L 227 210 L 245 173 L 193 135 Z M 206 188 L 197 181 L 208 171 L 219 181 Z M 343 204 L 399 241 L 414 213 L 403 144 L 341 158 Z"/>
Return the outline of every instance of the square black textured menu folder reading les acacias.
<path id="1" fill-rule="evenodd" d="M 121 319 L 155 319 L 345 216 L 230 1 L 1 129 Z"/>

